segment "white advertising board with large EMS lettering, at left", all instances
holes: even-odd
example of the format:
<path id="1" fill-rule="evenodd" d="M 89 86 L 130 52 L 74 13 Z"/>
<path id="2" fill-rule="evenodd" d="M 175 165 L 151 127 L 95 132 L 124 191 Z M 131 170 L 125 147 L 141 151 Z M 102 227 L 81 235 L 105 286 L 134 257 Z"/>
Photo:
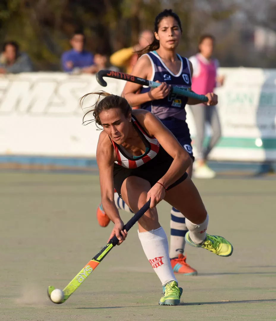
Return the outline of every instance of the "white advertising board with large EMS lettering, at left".
<path id="1" fill-rule="evenodd" d="M 123 81 L 104 88 L 119 93 Z M 102 90 L 95 76 L 30 73 L 0 78 L 0 154 L 94 157 L 99 131 L 82 125 L 95 100 L 80 97 Z M 87 118 L 88 119 L 88 118 Z"/>

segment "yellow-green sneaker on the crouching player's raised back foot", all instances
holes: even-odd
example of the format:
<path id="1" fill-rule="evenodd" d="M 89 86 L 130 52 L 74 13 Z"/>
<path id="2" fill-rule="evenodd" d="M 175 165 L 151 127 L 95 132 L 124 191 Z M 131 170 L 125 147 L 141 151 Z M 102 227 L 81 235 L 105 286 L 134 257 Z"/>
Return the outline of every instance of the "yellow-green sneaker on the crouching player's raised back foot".
<path id="1" fill-rule="evenodd" d="M 185 241 L 194 247 L 206 248 L 219 256 L 230 256 L 233 253 L 233 246 L 223 237 L 206 234 L 206 239 L 201 244 L 194 243 L 189 236 L 189 231 L 185 235 Z"/>

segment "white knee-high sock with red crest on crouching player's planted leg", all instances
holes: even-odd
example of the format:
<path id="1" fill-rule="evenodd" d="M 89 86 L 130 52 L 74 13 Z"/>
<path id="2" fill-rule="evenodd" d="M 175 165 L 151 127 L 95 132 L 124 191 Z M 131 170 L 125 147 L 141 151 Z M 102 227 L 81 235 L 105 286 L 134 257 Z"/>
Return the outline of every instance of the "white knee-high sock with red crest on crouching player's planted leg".
<path id="1" fill-rule="evenodd" d="M 139 232 L 143 250 L 162 285 L 176 281 L 168 252 L 168 239 L 162 227 L 148 232 Z"/>

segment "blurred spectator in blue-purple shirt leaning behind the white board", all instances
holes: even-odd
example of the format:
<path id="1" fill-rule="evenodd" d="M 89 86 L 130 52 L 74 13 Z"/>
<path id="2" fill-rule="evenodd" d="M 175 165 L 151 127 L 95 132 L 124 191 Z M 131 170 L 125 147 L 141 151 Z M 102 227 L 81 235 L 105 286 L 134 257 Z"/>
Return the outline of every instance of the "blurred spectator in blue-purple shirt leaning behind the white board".
<path id="1" fill-rule="evenodd" d="M 62 70 L 69 73 L 87 73 L 97 72 L 94 65 L 93 55 L 84 50 L 85 36 L 82 31 L 75 31 L 70 40 L 71 50 L 65 51 L 61 56 Z"/>

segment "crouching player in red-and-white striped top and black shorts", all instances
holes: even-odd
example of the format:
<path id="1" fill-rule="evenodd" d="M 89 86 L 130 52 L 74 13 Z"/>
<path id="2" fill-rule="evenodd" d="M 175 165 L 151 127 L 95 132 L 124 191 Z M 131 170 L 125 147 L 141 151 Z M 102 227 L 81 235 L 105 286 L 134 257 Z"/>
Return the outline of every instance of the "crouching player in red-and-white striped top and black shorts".
<path id="1" fill-rule="evenodd" d="M 151 112 L 132 110 L 125 98 L 106 92 L 92 94 L 99 94 L 88 113 L 93 112 L 96 124 L 103 127 L 97 163 L 102 206 L 114 223 L 110 238 L 116 235 L 120 244 L 127 236 L 114 202 L 114 187 L 134 213 L 151 198 L 150 209 L 138 221 L 138 236 L 163 286 L 159 304 L 177 305 L 182 288 L 170 264 L 167 236 L 155 206 L 164 199 L 185 213 L 189 230 L 185 239 L 191 246 L 220 256 L 230 256 L 233 247 L 220 236 L 206 234 L 208 214 L 186 173 L 192 160 L 175 136 Z"/>

